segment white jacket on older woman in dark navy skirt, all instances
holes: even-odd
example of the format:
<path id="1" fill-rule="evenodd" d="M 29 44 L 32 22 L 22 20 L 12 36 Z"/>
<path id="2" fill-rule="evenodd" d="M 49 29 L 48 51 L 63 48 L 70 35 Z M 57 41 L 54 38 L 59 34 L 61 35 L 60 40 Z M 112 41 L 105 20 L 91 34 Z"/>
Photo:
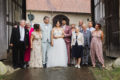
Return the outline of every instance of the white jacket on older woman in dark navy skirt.
<path id="1" fill-rule="evenodd" d="M 84 36 L 83 33 L 79 32 L 77 38 L 76 38 L 77 34 L 73 33 L 72 34 L 72 40 L 71 40 L 71 46 L 76 44 L 76 41 L 78 43 L 78 45 L 84 46 Z"/>

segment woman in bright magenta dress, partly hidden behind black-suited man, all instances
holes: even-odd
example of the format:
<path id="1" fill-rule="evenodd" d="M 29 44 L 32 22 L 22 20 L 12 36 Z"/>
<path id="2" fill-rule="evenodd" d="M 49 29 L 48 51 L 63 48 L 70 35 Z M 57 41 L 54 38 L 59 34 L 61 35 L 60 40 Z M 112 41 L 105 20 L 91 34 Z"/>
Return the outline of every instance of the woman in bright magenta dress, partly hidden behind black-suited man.
<path id="1" fill-rule="evenodd" d="M 34 29 L 31 28 L 31 25 L 29 23 L 26 24 L 26 28 L 29 30 L 29 44 L 30 44 L 31 34 L 34 31 Z M 24 61 L 25 61 L 25 66 L 26 67 L 29 66 L 28 62 L 30 61 L 30 51 L 31 51 L 30 46 L 31 45 L 28 46 L 28 48 L 25 51 L 25 55 L 24 55 Z"/>

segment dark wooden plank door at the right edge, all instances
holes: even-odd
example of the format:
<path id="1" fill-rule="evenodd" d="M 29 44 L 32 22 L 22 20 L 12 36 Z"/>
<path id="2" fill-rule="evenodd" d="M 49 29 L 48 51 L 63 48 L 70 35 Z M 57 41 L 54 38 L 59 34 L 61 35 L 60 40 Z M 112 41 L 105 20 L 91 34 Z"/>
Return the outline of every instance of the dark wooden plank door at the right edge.
<path id="1" fill-rule="evenodd" d="M 120 57 L 119 0 L 105 0 L 107 56 Z"/>

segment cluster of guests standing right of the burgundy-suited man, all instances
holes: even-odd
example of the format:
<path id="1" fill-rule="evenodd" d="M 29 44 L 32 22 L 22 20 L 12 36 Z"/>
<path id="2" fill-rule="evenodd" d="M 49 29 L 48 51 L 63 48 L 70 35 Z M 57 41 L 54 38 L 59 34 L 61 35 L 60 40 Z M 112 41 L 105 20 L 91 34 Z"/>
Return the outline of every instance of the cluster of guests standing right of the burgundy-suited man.
<path id="1" fill-rule="evenodd" d="M 95 28 L 93 27 L 92 21 L 88 22 L 88 27 L 83 23 L 82 20 L 79 22 L 79 26 L 72 27 L 72 57 L 76 59 L 75 67 L 80 68 L 80 64 L 87 65 L 92 62 L 92 66 L 96 67 L 96 57 L 101 63 L 102 67 L 105 68 L 102 42 L 103 42 L 103 31 L 101 30 L 101 24 L 97 23 Z"/>

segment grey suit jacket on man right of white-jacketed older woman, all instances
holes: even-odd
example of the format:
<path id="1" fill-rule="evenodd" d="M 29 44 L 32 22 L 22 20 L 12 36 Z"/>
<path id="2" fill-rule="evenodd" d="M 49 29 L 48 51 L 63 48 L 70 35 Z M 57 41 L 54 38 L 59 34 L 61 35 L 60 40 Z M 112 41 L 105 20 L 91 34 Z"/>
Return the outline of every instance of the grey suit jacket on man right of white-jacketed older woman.
<path id="1" fill-rule="evenodd" d="M 84 34 L 84 31 L 82 30 L 82 33 L 84 35 L 84 45 L 86 43 L 88 44 L 88 47 L 90 48 L 90 43 L 91 43 L 91 32 L 89 30 L 86 30 L 86 33 Z M 86 42 L 87 41 L 87 42 Z"/>

